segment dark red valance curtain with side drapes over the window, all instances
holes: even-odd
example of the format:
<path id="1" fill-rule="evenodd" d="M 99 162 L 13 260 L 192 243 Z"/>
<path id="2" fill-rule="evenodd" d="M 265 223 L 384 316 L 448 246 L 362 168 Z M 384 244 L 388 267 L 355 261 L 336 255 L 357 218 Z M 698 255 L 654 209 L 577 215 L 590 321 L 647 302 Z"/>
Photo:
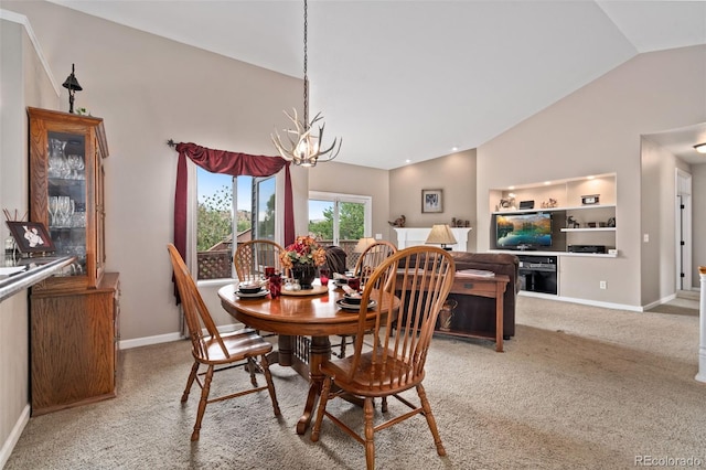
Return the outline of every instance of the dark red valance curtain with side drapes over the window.
<path id="1" fill-rule="evenodd" d="M 195 143 L 178 143 L 176 193 L 174 196 L 174 246 L 186 259 L 186 157 L 212 173 L 233 177 L 271 177 L 285 168 L 285 246 L 295 242 L 295 212 L 289 161 L 281 157 L 250 156 L 213 150 Z M 235 234 L 233 236 L 235 239 Z"/>

